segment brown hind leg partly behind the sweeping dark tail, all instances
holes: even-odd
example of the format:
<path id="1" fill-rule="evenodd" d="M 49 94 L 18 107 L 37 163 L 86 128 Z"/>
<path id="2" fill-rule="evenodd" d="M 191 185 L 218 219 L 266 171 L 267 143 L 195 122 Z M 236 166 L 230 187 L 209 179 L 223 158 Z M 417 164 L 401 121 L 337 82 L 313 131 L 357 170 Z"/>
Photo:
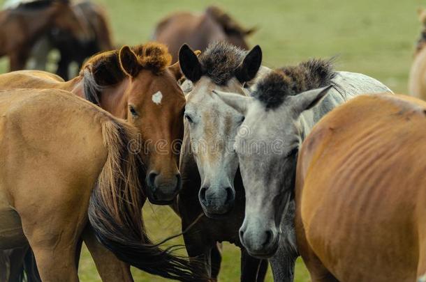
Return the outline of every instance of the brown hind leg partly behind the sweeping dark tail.
<path id="1" fill-rule="evenodd" d="M 130 265 L 123 263 L 114 253 L 99 243 L 90 225 L 86 226 L 82 237 L 85 240 L 87 249 L 89 249 L 102 281 L 133 282 Z"/>

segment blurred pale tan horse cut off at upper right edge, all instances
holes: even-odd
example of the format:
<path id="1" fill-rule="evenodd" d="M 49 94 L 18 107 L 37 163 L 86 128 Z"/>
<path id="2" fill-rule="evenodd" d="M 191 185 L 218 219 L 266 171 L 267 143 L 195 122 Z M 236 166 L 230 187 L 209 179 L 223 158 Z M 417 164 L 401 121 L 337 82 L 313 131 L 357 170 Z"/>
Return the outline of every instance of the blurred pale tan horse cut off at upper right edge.
<path id="1" fill-rule="evenodd" d="M 409 93 L 414 97 L 426 100 L 426 10 L 418 10 L 418 18 L 423 25 L 423 31 L 418 39 L 413 65 L 409 75 Z"/>

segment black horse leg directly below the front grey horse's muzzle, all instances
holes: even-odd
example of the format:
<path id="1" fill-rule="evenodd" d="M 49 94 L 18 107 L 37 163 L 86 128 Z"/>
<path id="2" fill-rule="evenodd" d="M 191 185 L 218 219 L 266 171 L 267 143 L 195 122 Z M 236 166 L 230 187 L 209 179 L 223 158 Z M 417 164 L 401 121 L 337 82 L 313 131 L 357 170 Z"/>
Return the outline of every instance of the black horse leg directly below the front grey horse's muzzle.
<path id="1" fill-rule="evenodd" d="M 254 258 L 241 248 L 241 281 L 263 282 L 267 271 L 267 260 Z"/>

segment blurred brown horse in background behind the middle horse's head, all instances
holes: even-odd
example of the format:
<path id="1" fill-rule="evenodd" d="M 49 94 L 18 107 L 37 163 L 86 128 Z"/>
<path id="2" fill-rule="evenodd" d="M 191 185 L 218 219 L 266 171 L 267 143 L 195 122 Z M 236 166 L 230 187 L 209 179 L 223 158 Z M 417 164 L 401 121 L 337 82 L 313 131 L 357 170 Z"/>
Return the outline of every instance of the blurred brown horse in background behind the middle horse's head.
<path id="1" fill-rule="evenodd" d="M 203 52 L 210 43 L 223 40 L 247 50 L 245 38 L 255 31 L 255 28 L 244 29 L 221 8 L 209 6 L 202 14 L 178 12 L 169 15 L 156 25 L 152 38 L 167 45 L 175 62 L 184 43 Z"/>

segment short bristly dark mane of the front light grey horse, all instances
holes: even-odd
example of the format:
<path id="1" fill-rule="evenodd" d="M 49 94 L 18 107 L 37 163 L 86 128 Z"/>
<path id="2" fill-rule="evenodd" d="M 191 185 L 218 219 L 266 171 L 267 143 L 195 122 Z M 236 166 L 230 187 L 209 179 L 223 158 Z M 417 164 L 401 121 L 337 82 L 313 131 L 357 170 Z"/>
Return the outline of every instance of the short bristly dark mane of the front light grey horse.
<path id="1" fill-rule="evenodd" d="M 289 95 L 333 84 L 335 76 L 332 60 L 311 59 L 270 72 L 258 82 L 251 95 L 267 109 L 275 109 Z"/>

